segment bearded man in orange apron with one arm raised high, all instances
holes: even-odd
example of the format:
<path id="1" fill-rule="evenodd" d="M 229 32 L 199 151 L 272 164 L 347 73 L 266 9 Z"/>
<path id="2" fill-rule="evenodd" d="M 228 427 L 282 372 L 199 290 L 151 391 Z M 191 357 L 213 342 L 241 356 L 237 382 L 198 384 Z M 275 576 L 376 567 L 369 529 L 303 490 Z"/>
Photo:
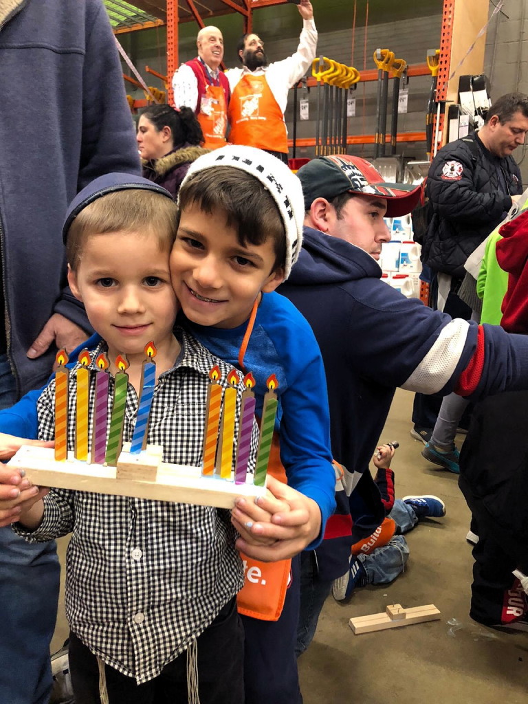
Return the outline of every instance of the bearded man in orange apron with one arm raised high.
<path id="1" fill-rule="evenodd" d="M 303 30 L 293 56 L 268 65 L 258 34 L 244 34 L 237 46 L 243 68 L 232 68 L 226 74 L 231 87 L 227 112 L 230 142 L 264 149 L 285 163 L 288 163 L 288 137 L 284 111 L 288 92 L 312 64 L 318 40 L 310 1 L 301 0 L 298 11 L 303 18 Z"/>

